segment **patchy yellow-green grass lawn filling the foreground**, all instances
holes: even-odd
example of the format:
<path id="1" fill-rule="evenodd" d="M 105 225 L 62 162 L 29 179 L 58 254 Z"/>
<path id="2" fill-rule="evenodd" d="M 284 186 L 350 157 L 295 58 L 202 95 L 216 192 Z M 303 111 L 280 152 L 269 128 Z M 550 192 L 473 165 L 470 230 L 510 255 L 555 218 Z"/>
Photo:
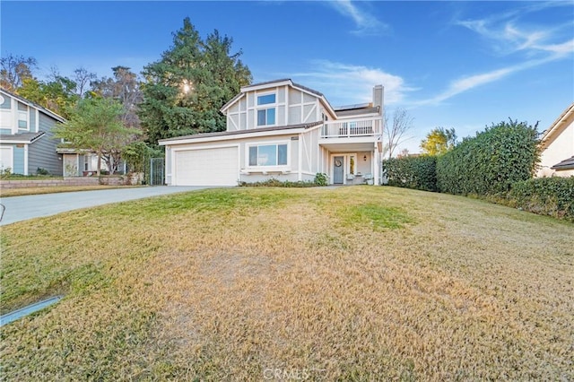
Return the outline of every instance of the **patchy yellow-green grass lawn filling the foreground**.
<path id="1" fill-rule="evenodd" d="M 6 380 L 572 380 L 574 225 L 393 187 L 230 188 L 3 227 Z"/>

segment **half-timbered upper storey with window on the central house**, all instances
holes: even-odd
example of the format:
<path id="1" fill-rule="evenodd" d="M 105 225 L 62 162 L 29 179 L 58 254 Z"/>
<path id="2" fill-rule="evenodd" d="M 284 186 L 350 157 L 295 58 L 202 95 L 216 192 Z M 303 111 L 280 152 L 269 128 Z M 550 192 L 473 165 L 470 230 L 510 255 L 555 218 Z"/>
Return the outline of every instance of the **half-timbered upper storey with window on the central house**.
<path id="1" fill-rule="evenodd" d="M 336 118 L 335 110 L 323 94 L 288 79 L 245 86 L 221 111 L 227 117 L 227 131 L 308 124 Z"/>

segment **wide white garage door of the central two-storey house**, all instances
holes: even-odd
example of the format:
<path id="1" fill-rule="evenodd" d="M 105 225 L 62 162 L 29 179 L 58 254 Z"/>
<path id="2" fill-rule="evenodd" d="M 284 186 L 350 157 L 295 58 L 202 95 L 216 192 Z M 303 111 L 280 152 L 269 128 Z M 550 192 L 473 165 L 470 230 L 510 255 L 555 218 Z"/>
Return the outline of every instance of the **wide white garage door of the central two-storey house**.
<path id="1" fill-rule="evenodd" d="M 176 186 L 237 186 L 238 148 L 175 152 Z"/>

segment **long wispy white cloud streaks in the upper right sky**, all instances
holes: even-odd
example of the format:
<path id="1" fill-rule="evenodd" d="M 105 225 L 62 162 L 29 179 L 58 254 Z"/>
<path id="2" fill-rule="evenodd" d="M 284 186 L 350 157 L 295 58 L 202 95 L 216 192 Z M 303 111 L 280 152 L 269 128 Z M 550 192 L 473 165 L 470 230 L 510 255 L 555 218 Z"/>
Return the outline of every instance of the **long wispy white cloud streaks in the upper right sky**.
<path id="1" fill-rule="evenodd" d="M 545 6 L 536 4 L 528 6 L 522 13 L 537 12 L 548 6 L 561 6 L 562 4 L 548 3 Z M 570 30 L 568 25 L 553 25 L 551 28 L 526 27 L 520 25 L 520 12 L 493 15 L 480 20 L 467 20 L 456 22 L 457 25 L 473 30 L 483 39 L 488 40 L 489 46 L 495 52 L 504 56 L 516 56 L 516 65 L 507 65 L 500 69 L 491 70 L 481 74 L 466 75 L 450 82 L 448 88 L 438 95 L 427 100 L 414 102 L 416 105 L 438 104 L 456 96 L 464 91 L 470 91 L 486 83 L 500 81 L 511 74 L 544 65 L 574 53 L 574 39 L 571 33 L 561 33 Z"/>

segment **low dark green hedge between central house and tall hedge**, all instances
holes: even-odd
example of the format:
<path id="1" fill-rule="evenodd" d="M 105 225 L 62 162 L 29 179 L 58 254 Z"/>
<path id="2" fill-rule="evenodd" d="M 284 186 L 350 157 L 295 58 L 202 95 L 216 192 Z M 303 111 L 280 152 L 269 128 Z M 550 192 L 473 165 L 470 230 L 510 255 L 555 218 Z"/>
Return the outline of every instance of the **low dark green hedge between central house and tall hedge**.
<path id="1" fill-rule="evenodd" d="M 391 158 L 383 161 L 383 171 L 389 186 L 437 191 L 437 157 Z"/>

